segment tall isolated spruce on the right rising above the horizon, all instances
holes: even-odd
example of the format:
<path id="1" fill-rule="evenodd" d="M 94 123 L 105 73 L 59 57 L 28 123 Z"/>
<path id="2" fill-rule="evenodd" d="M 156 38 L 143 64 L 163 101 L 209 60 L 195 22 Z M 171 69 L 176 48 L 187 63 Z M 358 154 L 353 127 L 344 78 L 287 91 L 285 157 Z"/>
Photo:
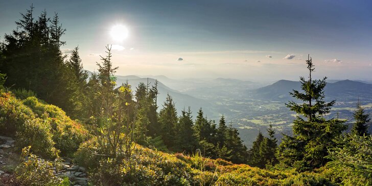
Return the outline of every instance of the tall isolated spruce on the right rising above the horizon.
<path id="1" fill-rule="evenodd" d="M 312 59 L 306 60 L 309 69 L 309 79 L 300 77 L 303 92 L 293 90 L 292 97 L 303 101 L 298 104 L 290 101 L 287 105 L 291 111 L 298 115 L 293 121 L 294 136 L 285 135 L 278 149 L 278 158 L 286 166 L 295 166 L 299 169 L 306 167 L 316 168 L 327 162 L 324 156 L 328 155 L 328 148 L 334 147 L 335 139 L 346 129 L 344 122 L 338 119 L 325 120 L 324 114 L 330 112 L 335 101 L 326 103 L 324 99 L 325 80 L 313 80 L 314 65 Z M 302 115 L 300 117 L 299 115 Z"/>

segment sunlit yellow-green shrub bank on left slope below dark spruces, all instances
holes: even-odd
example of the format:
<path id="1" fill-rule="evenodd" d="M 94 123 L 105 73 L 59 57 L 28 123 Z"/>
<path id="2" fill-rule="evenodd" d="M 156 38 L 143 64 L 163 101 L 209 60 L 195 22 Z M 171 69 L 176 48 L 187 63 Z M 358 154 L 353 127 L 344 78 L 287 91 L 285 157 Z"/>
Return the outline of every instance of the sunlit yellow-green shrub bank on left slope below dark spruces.
<path id="1" fill-rule="evenodd" d="M 31 146 L 32 152 L 44 158 L 74 153 L 87 133 L 60 108 L 35 97 L 21 101 L 11 92 L 0 95 L 0 128 L 4 129 L 1 134 L 16 136 L 17 147 Z"/>

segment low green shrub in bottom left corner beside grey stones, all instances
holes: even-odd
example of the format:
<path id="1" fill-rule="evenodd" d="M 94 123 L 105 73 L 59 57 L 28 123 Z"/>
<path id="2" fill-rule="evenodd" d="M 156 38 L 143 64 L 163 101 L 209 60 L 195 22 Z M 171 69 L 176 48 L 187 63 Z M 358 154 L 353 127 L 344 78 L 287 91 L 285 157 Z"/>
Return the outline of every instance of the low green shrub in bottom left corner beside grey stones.
<path id="1" fill-rule="evenodd" d="M 15 169 L 16 182 L 19 185 L 69 185 L 66 178 L 53 174 L 54 168 L 59 168 L 59 161 L 42 160 L 30 153 L 30 147 L 22 149 L 24 162 Z"/>

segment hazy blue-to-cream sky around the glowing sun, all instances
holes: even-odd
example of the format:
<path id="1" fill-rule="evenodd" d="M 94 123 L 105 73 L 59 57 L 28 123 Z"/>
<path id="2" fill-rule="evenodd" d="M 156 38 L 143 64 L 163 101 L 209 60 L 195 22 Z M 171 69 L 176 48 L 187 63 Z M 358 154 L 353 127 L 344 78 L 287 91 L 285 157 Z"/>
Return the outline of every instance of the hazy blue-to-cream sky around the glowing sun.
<path id="1" fill-rule="evenodd" d="M 0 36 L 33 3 L 35 14 L 58 12 L 62 48 L 77 45 L 94 71 L 114 45 L 118 75 L 171 78 L 372 79 L 372 1 L 3 1 Z M 110 35 L 124 26 L 123 41 Z M 183 60 L 179 60 L 179 58 Z"/>

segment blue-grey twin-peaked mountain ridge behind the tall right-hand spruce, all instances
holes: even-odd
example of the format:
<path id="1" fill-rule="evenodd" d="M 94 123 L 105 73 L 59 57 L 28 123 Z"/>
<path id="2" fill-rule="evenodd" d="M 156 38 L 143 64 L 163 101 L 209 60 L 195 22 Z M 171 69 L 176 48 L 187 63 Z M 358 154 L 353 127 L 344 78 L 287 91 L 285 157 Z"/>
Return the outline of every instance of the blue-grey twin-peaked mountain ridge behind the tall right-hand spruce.
<path id="1" fill-rule="evenodd" d="M 299 81 L 280 80 L 271 85 L 251 91 L 255 98 L 268 100 L 290 100 L 289 92 L 292 89 L 300 90 Z M 360 81 L 341 80 L 327 83 L 324 88 L 326 100 L 356 101 L 372 100 L 372 84 Z"/>

